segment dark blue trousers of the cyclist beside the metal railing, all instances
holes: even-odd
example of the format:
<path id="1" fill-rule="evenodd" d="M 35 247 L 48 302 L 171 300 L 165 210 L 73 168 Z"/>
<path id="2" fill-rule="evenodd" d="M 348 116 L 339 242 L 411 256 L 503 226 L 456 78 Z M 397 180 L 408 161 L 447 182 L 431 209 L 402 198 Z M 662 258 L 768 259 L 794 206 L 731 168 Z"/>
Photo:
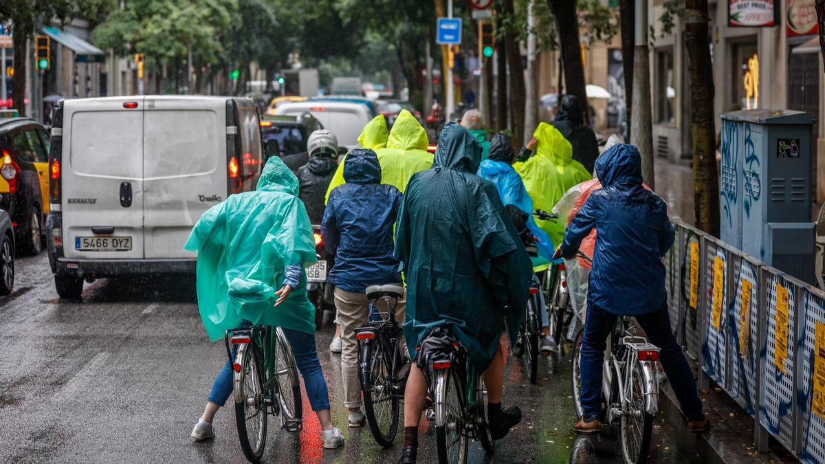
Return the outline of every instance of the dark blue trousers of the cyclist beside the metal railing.
<path id="1" fill-rule="evenodd" d="M 596 305 L 588 305 L 587 320 L 582 337 L 582 414 L 587 422 L 601 417 L 601 365 L 605 358 L 607 336 L 616 321 L 616 315 Z M 688 420 L 705 419 L 702 414 L 702 400 L 696 393 L 696 382 L 685 353 L 671 331 L 667 303 L 646 315 L 634 316 L 647 334 L 650 343 L 661 351 L 659 361 L 665 368 L 667 380 L 679 400 L 681 411 Z"/>

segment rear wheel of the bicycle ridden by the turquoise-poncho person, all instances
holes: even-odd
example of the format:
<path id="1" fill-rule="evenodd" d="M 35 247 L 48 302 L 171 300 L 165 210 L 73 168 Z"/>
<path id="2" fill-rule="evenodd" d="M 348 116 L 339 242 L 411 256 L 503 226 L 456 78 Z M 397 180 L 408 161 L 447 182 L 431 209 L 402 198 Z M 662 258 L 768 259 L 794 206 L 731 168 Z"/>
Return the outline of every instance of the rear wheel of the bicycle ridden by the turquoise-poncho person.
<path id="1" fill-rule="evenodd" d="M 235 422 L 243 455 L 258 462 L 266 446 L 266 404 L 263 391 L 263 364 L 257 345 L 238 348 L 234 373 Z"/>

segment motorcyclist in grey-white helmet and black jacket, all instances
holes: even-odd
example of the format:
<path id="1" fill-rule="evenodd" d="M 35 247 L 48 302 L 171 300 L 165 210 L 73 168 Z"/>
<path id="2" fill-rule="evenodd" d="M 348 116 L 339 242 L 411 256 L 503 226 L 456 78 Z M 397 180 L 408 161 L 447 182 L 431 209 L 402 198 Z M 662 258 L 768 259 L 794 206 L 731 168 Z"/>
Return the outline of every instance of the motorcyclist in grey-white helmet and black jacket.
<path id="1" fill-rule="evenodd" d="M 309 214 L 309 221 L 321 224 L 324 197 L 338 167 L 338 140 L 329 130 L 315 130 L 307 140 L 309 161 L 298 168 L 299 196 Z"/>

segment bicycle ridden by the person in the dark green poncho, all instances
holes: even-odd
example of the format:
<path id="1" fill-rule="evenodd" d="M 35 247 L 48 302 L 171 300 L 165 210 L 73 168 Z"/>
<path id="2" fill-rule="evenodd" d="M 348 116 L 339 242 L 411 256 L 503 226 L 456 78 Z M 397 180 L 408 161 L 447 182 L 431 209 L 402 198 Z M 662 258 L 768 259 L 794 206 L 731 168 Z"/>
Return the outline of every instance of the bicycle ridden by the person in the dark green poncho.
<path id="1" fill-rule="evenodd" d="M 467 462 L 470 438 L 479 440 L 488 456 L 495 451 L 487 422 L 487 389 L 468 357 L 467 348 L 448 327 L 433 329 L 419 353 L 435 405 L 436 447 L 442 464 Z"/>

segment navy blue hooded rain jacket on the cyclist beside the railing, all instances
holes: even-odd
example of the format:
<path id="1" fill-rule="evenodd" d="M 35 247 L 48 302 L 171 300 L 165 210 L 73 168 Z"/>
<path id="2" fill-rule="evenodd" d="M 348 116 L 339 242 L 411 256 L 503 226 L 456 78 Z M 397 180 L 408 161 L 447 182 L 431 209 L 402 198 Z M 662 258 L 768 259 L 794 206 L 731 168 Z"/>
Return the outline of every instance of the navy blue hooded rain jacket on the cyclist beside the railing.
<path id="1" fill-rule="evenodd" d="M 662 257 L 673 245 L 667 206 L 642 187 L 642 159 L 618 144 L 596 159 L 601 190 L 587 198 L 564 234 L 562 256 L 573 258 L 595 227 L 596 251 L 587 299 L 615 315 L 643 315 L 667 299 Z"/>

